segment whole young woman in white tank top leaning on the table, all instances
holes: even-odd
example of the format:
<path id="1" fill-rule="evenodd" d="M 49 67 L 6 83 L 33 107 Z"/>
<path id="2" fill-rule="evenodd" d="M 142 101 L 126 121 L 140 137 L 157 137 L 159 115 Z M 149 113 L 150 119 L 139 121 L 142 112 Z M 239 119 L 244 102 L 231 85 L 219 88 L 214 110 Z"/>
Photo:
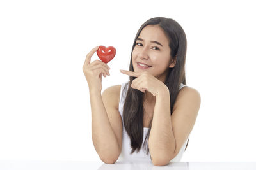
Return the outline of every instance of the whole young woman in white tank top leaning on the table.
<path id="1" fill-rule="evenodd" d="M 164 166 L 181 159 L 201 103 L 199 92 L 186 86 L 186 46 L 185 32 L 175 20 L 147 20 L 134 39 L 129 71 L 121 71 L 130 81 L 102 95 L 102 74 L 109 76 L 110 68 L 100 60 L 90 63 L 98 46 L 88 53 L 83 72 L 90 90 L 92 139 L 103 162 L 119 158 Z"/>

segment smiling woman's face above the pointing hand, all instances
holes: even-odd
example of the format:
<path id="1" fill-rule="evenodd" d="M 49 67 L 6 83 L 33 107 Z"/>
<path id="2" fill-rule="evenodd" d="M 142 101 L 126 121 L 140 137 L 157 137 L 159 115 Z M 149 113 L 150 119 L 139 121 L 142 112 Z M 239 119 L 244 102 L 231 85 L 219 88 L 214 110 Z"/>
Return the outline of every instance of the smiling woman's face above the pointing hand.
<path id="1" fill-rule="evenodd" d="M 135 72 L 147 71 L 161 81 L 165 81 L 171 62 L 171 49 L 163 29 L 156 25 L 147 25 L 142 29 L 132 51 L 132 65 Z M 172 60 L 173 61 L 173 60 Z M 148 66 L 140 66 L 140 64 Z"/>

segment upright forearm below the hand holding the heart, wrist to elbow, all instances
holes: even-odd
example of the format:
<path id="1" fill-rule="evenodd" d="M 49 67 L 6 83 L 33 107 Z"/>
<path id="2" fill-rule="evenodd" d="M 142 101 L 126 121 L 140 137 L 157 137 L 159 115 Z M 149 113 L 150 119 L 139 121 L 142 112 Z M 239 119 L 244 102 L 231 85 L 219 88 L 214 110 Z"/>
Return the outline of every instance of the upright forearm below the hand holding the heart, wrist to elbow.
<path id="1" fill-rule="evenodd" d="M 100 90 L 90 90 L 92 110 L 92 140 L 100 159 L 105 163 L 115 163 L 119 148 L 115 133 L 109 122 Z"/>

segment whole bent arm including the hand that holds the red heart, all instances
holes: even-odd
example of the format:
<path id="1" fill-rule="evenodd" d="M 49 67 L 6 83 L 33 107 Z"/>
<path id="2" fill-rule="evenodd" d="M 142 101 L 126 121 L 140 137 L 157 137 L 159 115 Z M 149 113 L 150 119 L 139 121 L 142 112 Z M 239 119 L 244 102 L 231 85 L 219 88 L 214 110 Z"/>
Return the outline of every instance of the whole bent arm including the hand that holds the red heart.
<path id="1" fill-rule="evenodd" d="M 118 108 L 116 109 L 116 105 L 118 107 L 118 101 L 115 100 L 118 98 L 116 88 L 109 87 L 101 96 L 102 75 L 110 76 L 110 67 L 100 60 L 91 62 L 93 53 L 98 48 L 99 46 L 96 46 L 86 55 L 83 72 L 90 91 L 93 145 L 103 162 L 113 164 L 118 159 L 121 150 L 122 118 L 120 118 Z"/>

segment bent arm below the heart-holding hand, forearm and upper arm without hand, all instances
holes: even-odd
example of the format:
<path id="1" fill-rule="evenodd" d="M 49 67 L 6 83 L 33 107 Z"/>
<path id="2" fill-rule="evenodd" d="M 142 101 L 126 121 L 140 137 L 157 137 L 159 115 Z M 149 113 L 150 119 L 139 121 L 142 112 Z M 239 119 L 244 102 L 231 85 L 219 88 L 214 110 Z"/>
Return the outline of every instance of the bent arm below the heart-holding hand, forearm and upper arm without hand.
<path id="1" fill-rule="evenodd" d="M 122 120 L 120 120 L 120 114 L 116 110 L 116 104 L 114 104 L 116 100 L 114 100 L 111 89 L 113 88 L 106 89 L 102 96 L 99 90 L 90 90 L 93 145 L 100 159 L 106 164 L 116 162 L 121 152 L 120 143 L 122 142 L 122 137 L 120 138 Z M 108 105 L 106 106 L 108 113 L 104 104 Z M 110 121 L 109 118 L 111 118 Z M 113 128 L 111 122 L 113 122 Z"/>

